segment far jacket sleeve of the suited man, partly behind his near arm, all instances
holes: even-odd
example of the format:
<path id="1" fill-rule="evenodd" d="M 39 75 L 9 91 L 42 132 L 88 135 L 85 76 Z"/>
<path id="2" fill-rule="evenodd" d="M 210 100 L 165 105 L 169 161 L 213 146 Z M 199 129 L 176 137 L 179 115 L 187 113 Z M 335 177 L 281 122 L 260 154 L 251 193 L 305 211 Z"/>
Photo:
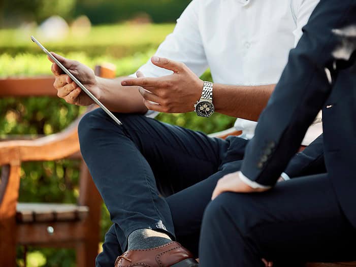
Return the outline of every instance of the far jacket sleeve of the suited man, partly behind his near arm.
<path id="1" fill-rule="evenodd" d="M 295 154 L 284 171 L 291 179 L 326 172 L 322 135 L 302 152 Z"/>

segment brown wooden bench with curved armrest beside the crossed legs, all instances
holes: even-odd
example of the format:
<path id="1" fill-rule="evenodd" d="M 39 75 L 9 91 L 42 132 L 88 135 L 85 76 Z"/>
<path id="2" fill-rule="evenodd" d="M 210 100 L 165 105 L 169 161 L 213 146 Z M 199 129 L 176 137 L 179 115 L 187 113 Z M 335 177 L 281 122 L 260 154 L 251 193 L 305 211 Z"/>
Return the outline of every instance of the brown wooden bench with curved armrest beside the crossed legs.
<path id="1" fill-rule="evenodd" d="M 114 70 L 102 66 L 96 67 L 95 73 L 105 78 L 115 75 Z M 0 97 L 56 97 L 53 82 L 53 76 L 0 79 Z M 102 199 L 83 161 L 76 205 L 17 203 L 22 162 L 81 159 L 79 120 L 53 135 L 0 142 L 0 266 L 16 266 L 17 245 L 74 248 L 77 266 L 95 265 Z"/>

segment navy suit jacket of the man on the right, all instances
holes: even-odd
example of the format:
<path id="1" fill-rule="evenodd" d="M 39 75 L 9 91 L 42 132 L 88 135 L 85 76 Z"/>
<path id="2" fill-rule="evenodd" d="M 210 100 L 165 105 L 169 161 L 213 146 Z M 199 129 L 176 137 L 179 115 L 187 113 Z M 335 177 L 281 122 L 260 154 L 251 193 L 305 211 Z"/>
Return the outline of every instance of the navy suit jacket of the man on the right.
<path id="1" fill-rule="evenodd" d="M 321 0 L 303 31 L 246 148 L 241 172 L 273 186 L 322 109 L 326 169 L 356 227 L 356 1 Z"/>

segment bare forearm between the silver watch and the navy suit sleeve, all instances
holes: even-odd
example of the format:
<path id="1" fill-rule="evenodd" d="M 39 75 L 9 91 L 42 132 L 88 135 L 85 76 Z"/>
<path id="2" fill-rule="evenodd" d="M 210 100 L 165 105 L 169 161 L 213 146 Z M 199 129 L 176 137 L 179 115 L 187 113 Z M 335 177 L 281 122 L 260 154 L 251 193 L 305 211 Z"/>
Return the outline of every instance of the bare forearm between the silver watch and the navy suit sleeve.
<path id="1" fill-rule="evenodd" d="M 215 111 L 237 118 L 257 121 L 274 88 L 275 84 L 258 86 L 214 84 Z"/>

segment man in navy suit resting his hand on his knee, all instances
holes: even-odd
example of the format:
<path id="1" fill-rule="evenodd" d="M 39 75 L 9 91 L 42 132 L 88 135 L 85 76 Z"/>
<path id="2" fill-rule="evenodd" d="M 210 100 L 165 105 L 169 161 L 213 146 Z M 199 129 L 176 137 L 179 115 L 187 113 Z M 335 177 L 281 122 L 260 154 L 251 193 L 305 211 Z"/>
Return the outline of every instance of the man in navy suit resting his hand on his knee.
<path id="1" fill-rule="evenodd" d="M 204 214 L 200 266 L 356 259 L 355 51 L 356 1 L 321 1 L 289 54 L 240 171 L 217 183 Z M 320 109 L 323 136 L 315 149 L 323 150 L 327 173 L 276 185 Z"/>

